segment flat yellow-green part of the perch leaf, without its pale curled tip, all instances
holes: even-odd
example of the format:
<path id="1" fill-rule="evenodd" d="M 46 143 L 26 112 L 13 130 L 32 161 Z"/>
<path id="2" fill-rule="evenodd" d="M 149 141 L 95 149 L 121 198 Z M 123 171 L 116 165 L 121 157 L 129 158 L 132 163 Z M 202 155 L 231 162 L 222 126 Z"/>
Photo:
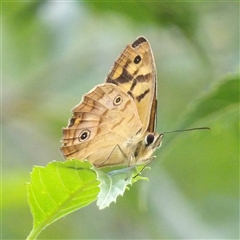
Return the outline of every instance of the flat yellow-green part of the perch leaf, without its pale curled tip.
<path id="1" fill-rule="evenodd" d="M 28 202 L 34 218 L 28 239 L 43 228 L 97 199 L 99 181 L 92 164 L 71 160 L 36 166 L 28 184 Z"/>

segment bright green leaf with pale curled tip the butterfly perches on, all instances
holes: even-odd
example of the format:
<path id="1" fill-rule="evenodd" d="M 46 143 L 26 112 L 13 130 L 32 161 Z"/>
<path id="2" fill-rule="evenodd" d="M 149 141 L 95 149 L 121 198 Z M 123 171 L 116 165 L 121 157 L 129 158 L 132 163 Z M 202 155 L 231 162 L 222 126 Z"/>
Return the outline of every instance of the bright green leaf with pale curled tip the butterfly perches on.
<path id="1" fill-rule="evenodd" d="M 79 160 L 35 166 L 27 188 L 34 219 L 27 239 L 35 239 L 49 224 L 97 199 L 100 209 L 109 206 L 123 195 L 127 185 L 146 179 L 140 176 L 144 168 L 133 166 L 105 173 Z"/>

